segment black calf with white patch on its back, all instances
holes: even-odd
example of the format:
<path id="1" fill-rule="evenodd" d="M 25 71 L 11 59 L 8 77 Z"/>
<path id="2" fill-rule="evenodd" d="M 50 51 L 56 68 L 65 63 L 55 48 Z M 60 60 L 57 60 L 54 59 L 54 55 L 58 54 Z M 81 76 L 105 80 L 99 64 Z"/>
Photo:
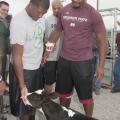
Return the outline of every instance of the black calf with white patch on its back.
<path id="1" fill-rule="evenodd" d="M 47 120 L 97 120 L 87 117 L 75 110 L 67 109 L 53 102 L 51 99 L 56 98 L 56 94 L 32 93 L 28 100 L 35 108 L 42 108 Z"/>

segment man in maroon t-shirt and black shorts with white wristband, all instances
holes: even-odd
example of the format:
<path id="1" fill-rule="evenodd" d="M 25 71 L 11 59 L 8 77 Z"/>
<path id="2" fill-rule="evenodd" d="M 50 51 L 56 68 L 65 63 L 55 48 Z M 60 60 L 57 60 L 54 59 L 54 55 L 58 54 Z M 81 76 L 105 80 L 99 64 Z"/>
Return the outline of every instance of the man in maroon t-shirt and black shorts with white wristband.
<path id="1" fill-rule="evenodd" d="M 104 76 L 105 63 L 105 26 L 101 15 L 85 0 L 72 0 L 60 12 L 57 27 L 46 44 L 44 61 L 53 49 L 60 33 L 63 31 L 63 46 L 58 61 L 56 91 L 60 104 L 69 107 L 73 87 L 83 104 L 87 116 L 92 116 L 92 45 L 93 33 L 99 44 L 99 65 L 97 79 Z"/>

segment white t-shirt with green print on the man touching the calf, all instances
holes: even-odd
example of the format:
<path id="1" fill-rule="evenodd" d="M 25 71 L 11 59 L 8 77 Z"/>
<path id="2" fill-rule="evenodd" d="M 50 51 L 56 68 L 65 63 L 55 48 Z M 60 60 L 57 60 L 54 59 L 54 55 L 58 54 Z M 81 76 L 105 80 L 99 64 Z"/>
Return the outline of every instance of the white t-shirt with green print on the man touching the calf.
<path id="1" fill-rule="evenodd" d="M 11 44 L 23 45 L 23 68 L 35 70 L 40 67 L 43 54 L 45 19 L 34 21 L 26 10 L 16 15 L 10 25 Z"/>

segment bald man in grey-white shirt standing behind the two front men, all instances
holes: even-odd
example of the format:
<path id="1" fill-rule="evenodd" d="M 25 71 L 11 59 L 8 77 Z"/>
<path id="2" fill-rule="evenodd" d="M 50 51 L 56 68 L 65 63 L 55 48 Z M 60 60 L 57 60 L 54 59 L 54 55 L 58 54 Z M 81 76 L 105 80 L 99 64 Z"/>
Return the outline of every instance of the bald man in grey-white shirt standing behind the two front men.
<path id="1" fill-rule="evenodd" d="M 45 43 L 48 42 L 51 32 L 55 29 L 57 23 L 57 17 L 62 8 L 60 0 L 53 0 L 52 11 L 53 14 L 46 19 L 46 31 L 45 31 Z M 59 57 L 59 51 L 62 45 L 62 36 L 56 43 L 56 47 L 53 53 L 47 58 L 47 62 L 44 64 L 44 75 L 45 75 L 45 90 L 52 92 L 53 83 L 56 81 L 57 61 Z"/>

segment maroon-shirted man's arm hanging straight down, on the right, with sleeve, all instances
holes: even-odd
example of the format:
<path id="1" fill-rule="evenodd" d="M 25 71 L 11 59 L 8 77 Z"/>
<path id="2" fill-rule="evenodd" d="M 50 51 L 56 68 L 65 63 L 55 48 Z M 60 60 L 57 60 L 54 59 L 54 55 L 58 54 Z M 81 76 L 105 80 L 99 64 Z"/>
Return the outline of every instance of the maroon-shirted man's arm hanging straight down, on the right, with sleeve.
<path id="1" fill-rule="evenodd" d="M 102 16 L 95 10 L 92 11 L 92 28 L 96 35 L 99 49 L 99 64 L 97 67 L 97 79 L 102 80 L 104 77 L 104 64 L 106 58 L 106 29 Z"/>

